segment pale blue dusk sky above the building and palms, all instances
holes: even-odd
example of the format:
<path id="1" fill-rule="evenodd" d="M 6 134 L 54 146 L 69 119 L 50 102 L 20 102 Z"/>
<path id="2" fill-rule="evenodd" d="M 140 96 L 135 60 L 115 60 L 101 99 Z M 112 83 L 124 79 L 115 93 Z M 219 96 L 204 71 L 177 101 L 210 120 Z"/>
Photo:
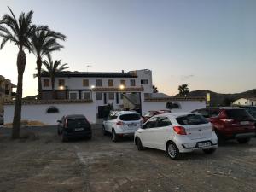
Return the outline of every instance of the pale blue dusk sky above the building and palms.
<path id="1" fill-rule="evenodd" d="M 71 71 L 153 71 L 160 92 L 235 93 L 256 88 L 254 0 L 0 0 L 0 17 L 34 11 L 32 22 L 67 35 L 53 59 Z M 0 39 L 1 41 L 2 39 Z M 0 74 L 16 84 L 14 44 L 0 50 Z M 26 52 L 23 96 L 37 94 L 36 58 Z"/>

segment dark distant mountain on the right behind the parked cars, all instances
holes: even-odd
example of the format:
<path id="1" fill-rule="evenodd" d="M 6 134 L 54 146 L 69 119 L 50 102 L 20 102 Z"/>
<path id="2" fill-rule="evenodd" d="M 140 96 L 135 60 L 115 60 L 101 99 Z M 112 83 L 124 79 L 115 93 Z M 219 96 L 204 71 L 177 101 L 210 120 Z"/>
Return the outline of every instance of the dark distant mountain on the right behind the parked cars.
<path id="1" fill-rule="evenodd" d="M 229 106 L 231 102 L 237 99 L 256 97 L 256 89 L 234 94 L 216 93 L 211 90 L 194 90 L 188 96 L 207 96 L 207 93 L 210 93 L 211 96 L 210 106 Z"/>

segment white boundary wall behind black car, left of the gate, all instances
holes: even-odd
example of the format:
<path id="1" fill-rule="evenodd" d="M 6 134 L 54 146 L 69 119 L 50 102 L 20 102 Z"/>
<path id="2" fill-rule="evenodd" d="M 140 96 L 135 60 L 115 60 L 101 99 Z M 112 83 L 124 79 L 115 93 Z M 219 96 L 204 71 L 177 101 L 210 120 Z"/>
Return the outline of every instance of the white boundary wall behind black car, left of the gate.
<path id="1" fill-rule="evenodd" d="M 59 109 L 59 113 L 46 113 L 50 106 Z M 4 105 L 4 123 L 12 123 L 15 105 Z M 95 103 L 50 103 L 50 104 L 22 104 L 21 119 L 37 120 L 46 125 L 57 125 L 57 120 L 63 115 L 84 114 L 91 124 L 96 123 Z"/>

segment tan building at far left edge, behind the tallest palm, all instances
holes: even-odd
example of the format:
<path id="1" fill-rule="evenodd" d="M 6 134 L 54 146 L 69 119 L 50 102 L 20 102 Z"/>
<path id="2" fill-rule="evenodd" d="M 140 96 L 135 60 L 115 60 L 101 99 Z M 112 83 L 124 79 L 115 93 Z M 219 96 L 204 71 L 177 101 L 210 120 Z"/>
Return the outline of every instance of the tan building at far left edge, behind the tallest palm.
<path id="1" fill-rule="evenodd" d="M 12 84 L 9 79 L 5 79 L 0 75 L 0 113 L 3 113 L 3 103 L 12 101 L 15 96 L 12 92 L 15 87 L 15 84 Z"/>

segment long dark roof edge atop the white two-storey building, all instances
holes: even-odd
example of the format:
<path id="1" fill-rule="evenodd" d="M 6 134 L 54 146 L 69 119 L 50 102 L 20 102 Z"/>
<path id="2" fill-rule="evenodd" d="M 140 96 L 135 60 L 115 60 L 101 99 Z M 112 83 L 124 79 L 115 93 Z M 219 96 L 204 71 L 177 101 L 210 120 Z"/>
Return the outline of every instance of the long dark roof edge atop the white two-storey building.
<path id="1" fill-rule="evenodd" d="M 49 77 L 49 73 L 43 72 L 42 77 Z M 133 72 L 59 72 L 55 77 L 73 77 L 73 78 L 137 78 Z"/>

